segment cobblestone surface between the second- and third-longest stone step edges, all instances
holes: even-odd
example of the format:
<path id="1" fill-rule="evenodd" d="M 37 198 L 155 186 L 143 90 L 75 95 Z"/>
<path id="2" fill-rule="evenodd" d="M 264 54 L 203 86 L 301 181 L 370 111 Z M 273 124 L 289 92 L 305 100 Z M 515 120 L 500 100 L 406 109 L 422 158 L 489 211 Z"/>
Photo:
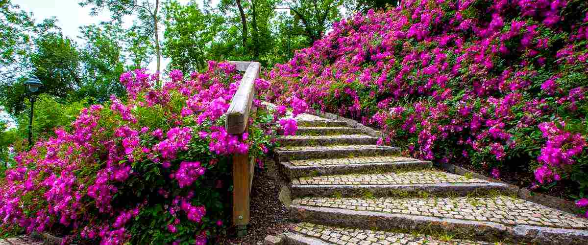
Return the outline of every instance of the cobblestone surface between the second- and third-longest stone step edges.
<path id="1" fill-rule="evenodd" d="M 368 173 L 325 175 L 294 179 L 297 185 L 410 185 L 429 183 L 487 183 L 482 179 L 468 179 L 461 175 L 440 171 L 412 171 L 398 173 Z"/>

